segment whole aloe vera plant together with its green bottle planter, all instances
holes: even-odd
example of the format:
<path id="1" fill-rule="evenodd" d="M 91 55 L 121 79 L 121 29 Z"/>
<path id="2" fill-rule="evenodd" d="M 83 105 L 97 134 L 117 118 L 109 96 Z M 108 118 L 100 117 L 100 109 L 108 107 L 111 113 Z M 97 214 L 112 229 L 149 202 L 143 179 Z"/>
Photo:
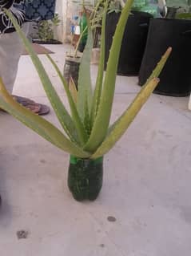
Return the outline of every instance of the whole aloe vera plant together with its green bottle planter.
<path id="1" fill-rule="evenodd" d="M 121 138 L 129 124 L 133 121 L 145 101 L 149 98 L 153 89 L 157 86 L 162 67 L 170 54 L 169 48 L 161 58 L 157 67 L 150 75 L 137 94 L 129 108 L 109 126 L 109 119 L 113 105 L 113 95 L 117 73 L 117 61 L 121 47 L 121 40 L 125 29 L 125 24 L 133 0 L 128 0 L 121 12 L 121 18 L 117 24 L 117 29 L 113 37 L 113 44 L 110 50 L 109 61 L 104 77 L 104 56 L 105 56 L 105 15 L 107 4 L 105 5 L 105 14 L 101 27 L 101 58 L 98 66 L 96 87 L 93 91 L 90 78 L 90 55 L 92 51 L 93 37 L 90 24 L 88 24 L 88 39 L 85 51 L 82 55 L 82 61 L 79 71 L 78 91 L 71 81 L 70 87 L 66 83 L 62 72 L 59 71 L 54 60 L 50 62 L 54 65 L 70 104 L 70 112 L 62 104 L 57 92 L 47 75 L 41 61 L 34 53 L 30 42 L 23 35 L 22 30 L 15 22 L 13 16 L 6 10 L 14 22 L 14 26 L 21 37 L 26 50 L 38 71 L 46 95 L 50 104 L 54 108 L 58 120 L 62 124 L 64 133 L 56 128 L 49 121 L 37 116 L 23 108 L 13 100 L 11 95 L 6 91 L 2 79 L 0 79 L 0 108 L 9 112 L 12 116 L 20 120 L 23 124 L 33 129 L 40 136 L 44 137 L 50 143 L 58 148 L 70 153 L 70 169 L 68 185 L 74 198 L 81 201 L 83 199 L 94 200 L 97 197 L 102 185 L 102 156 L 109 152 L 109 149 Z M 71 90 L 69 89 L 71 88 Z"/>

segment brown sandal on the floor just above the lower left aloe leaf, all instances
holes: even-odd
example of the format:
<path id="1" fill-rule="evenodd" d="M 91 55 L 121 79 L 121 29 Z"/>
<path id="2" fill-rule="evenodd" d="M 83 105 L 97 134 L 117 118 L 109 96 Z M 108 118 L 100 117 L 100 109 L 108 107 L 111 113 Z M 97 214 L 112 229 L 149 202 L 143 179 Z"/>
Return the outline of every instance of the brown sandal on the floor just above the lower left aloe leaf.
<path id="1" fill-rule="evenodd" d="M 39 116 L 47 115 L 50 112 L 50 108 L 44 104 L 38 104 L 34 100 L 30 100 L 25 97 L 13 95 L 14 100 L 16 100 L 23 107 L 29 109 L 31 112 Z"/>

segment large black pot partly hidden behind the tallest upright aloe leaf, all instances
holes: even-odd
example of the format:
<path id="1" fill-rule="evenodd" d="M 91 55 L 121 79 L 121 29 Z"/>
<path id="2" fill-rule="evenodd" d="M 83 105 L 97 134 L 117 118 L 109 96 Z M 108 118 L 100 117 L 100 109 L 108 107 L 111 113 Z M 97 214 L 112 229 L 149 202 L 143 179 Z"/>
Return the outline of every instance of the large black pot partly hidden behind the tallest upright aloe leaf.
<path id="1" fill-rule="evenodd" d="M 105 24 L 105 68 L 119 17 L 120 13 L 107 14 Z M 121 43 L 117 75 L 138 74 L 145 51 L 150 18 L 153 18 L 151 14 L 139 11 L 134 11 L 133 14 L 129 15 Z"/>

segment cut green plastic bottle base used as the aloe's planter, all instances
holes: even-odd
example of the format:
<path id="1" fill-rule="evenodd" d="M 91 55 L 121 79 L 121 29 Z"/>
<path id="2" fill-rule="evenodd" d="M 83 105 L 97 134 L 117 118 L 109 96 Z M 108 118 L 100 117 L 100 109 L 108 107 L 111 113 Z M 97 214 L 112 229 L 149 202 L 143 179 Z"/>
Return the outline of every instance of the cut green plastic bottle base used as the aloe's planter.
<path id="1" fill-rule="evenodd" d="M 68 187 L 77 201 L 94 201 L 103 181 L 103 157 L 82 159 L 70 156 Z"/>

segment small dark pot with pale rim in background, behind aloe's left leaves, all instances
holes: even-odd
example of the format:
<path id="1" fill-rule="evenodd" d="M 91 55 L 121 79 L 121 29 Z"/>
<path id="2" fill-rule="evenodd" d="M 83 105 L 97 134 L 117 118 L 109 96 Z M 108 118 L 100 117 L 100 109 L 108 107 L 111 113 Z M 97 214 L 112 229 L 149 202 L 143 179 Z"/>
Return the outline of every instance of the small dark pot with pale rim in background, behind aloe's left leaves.
<path id="1" fill-rule="evenodd" d="M 66 56 L 64 65 L 64 77 L 67 83 L 70 83 L 70 76 L 78 89 L 78 73 L 80 67 L 80 57 Z"/>

